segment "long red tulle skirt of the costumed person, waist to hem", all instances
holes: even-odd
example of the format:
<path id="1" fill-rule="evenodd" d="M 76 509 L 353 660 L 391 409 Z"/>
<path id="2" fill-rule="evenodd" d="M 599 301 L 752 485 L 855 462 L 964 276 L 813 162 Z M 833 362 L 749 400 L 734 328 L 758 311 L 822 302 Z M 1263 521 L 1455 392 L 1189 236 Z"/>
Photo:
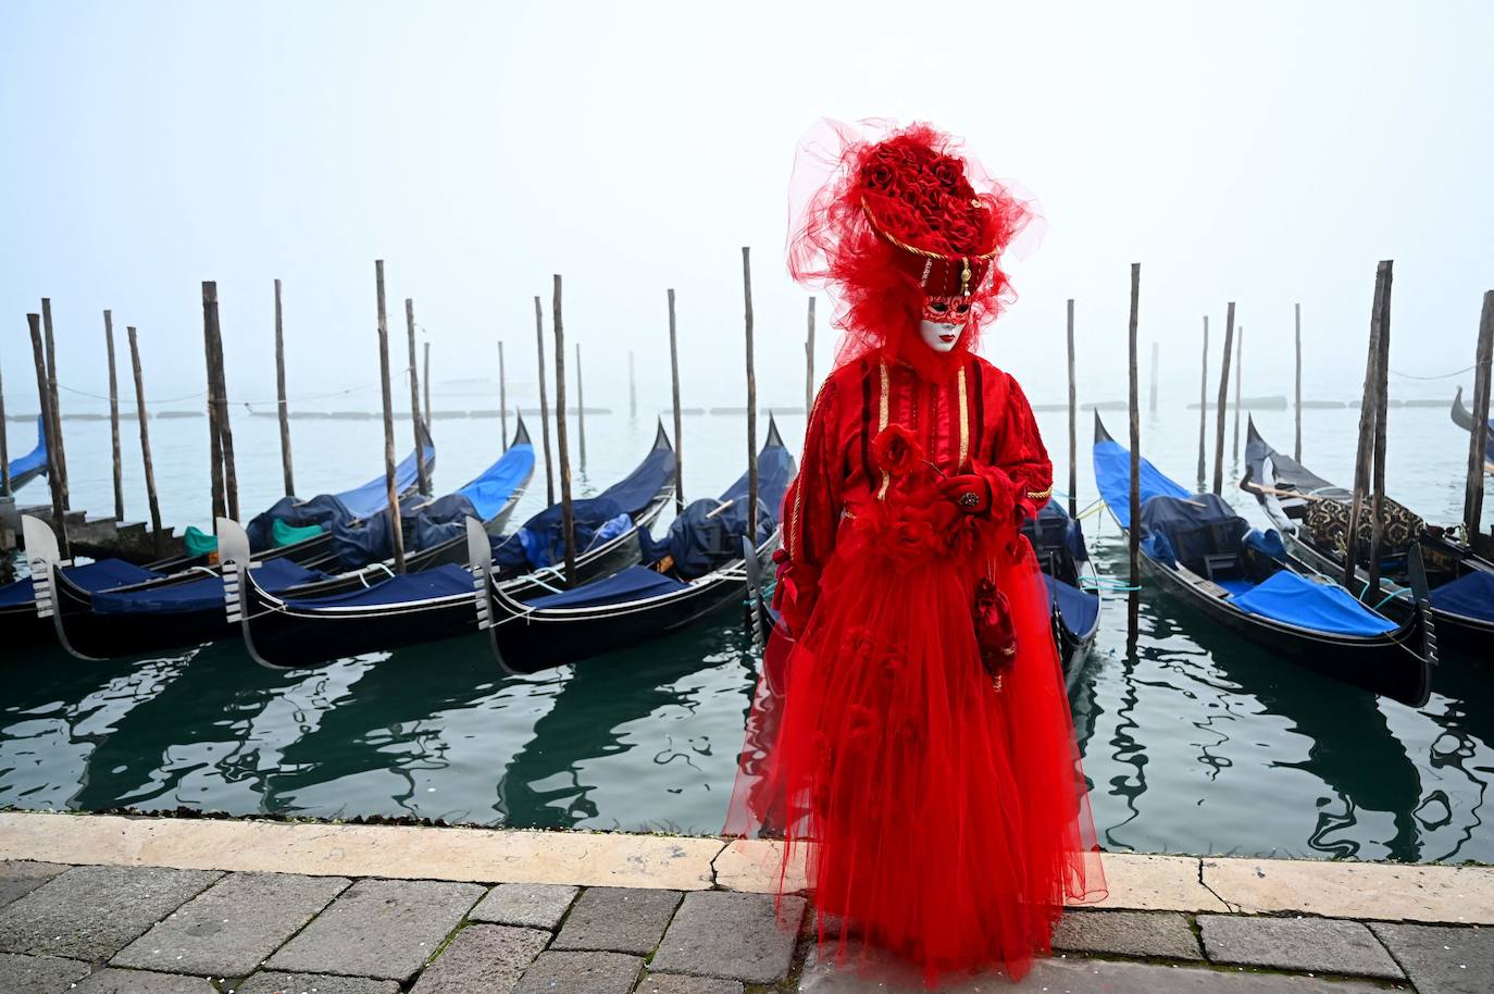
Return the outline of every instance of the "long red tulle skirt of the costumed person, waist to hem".
<path id="1" fill-rule="evenodd" d="M 896 540 L 843 522 L 807 631 L 775 634 L 726 830 L 802 856 L 822 952 L 856 939 L 928 984 L 1016 979 L 1065 900 L 1104 888 L 1047 592 L 1014 534 Z M 1017 635 L 999 686 L 971 616 L 983 575 Z"/>

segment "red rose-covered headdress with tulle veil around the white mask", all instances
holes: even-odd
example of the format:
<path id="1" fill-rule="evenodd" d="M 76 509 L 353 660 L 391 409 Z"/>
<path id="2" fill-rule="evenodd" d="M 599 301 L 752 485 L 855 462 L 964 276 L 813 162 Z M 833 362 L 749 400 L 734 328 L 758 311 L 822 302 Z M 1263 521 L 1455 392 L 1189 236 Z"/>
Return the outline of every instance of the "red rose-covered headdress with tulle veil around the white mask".
<path id="1" fill-rule="evenodd" d="M 928 124 L 861 127 L 820 121 L 799 146 L 789 272 L 835 297 L 837 366 L 887 347 L 938 375 L 1016 299 L 1001 256 L 1038 215 Z M 956 296 L 970 324 L 955 351 L 934 353 L 917 335 L 923 302 Z"/>

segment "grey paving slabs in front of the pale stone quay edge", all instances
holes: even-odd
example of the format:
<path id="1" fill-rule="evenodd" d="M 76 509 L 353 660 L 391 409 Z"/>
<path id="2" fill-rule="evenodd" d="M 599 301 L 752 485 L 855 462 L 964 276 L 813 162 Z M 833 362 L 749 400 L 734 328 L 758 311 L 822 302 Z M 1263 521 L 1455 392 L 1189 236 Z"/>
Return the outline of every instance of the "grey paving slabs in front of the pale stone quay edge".
<path id="1" fill-rule="evenodd" d="M 619 845 L 617 837 L 592 839 Z M 0 855 L 13 855 L 3 831 Z M 771 895 L 731 889 L 751 880 L 741 865 L 728 873 L 717 862 L 726 861 L 707 864 L 710 879 L 672 889 L 7 859 L 0 861 L 0 994 L 922 990 L 917 976 L 875 954 L 867 955 L 870 976 L 819 961 L 802 898 L 784 898 L 775 915 Z M 1262 861 L 1256 876 L 1310 873 L 1312 865 Z M 523 861 L 514 868 L 521 873 Z M 1475 892 L 1482 876 L 1457 879 L 1455 900 L 1473 907 L 1487 898 Z M 1144 900 L 1168 903 L 1162 891 Z M 974 976 L 944 990 L 1494 991 L 1494 927 L 1487 924 L 1434 924 L 1434 910 L 1391 922 L 1240 913 L 1227 904 L 1073 910 L 1053 958 L 1023 982 Z M 1364 919 L 1383 916 L 1373 898 L 1366 904 Z"/>

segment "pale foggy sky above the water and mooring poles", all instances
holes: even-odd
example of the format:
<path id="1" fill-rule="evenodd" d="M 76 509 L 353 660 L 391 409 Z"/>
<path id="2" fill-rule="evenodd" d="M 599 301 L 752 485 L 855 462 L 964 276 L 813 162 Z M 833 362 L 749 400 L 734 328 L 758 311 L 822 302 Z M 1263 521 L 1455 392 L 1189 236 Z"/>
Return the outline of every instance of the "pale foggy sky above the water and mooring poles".
<path id="1" fill-rule="evenodd" d="M 209 278 L 230 395 L 273 398 L 279 277 L 291 396 L 371 408 L 369 390 L 311 398 L 378 375 L 374 259 L 396 356 L 412 296 L 438 384 L 495 378 L 503 339 L 526 399 L 532 297 L 548 314 L 559 272 L 589 402 L 624 404 L 633 350 L 641 407 L 668 404 L 674 287 L 686 404 L 741 404 L 743 245 L 759 396 L 802 404 L 807 291 L 783 241 L 795 145 L 819 117 L 932 121 L 1038 197 L 1046 239 L 1013 266 L 1020 300 L 985 348 L 1034 401 L 1062 396 L 1070 296 L 1082 398 L 1123 396 L 1132 262 L 1143 366 L 1161 342 L 1173 404 L 1197 395 L 1204 314 L 1218 369 L 1227 300 L 1247 395 L 1289 392 L 1294 302 L 1307 393 L 1355 395 L 1379 259 L 1395 260 L 1391 366 L 1472 363 L 1494 287 L 1494 7 L 1037 7 L 6 3 L 7 407 L 34 410 L 40 296 L 64 384 L 103 390 L 109 306 L 121 345 L 140 329 L 152 399 L 202 390 Z M 1392 378 L 1392 396 L 1458 381 Z"/>

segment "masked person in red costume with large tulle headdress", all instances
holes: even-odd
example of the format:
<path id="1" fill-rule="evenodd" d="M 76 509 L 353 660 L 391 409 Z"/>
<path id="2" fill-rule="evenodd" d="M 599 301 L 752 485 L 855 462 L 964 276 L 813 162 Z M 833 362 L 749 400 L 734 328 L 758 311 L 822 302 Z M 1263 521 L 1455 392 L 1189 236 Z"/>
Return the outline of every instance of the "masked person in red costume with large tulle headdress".
<path id="1" fill-rule="evenodd" d="M 822 126 L 825 129 L 826 126 Z M 828 126 L 789 268 L 843 339 L 784 499 L 771 635 L 729 834 L 802 856 L 819 942 L 928 984 L 1047 954 L 1103 891 L 1025 519 L 1052 463 L 1022 387 L 976 354 L 1032 208 L 926 124 Z M 838 146 L 838 148 L 837 148 Z M 780 874 L 780 889 L 784 876 Z"/>

